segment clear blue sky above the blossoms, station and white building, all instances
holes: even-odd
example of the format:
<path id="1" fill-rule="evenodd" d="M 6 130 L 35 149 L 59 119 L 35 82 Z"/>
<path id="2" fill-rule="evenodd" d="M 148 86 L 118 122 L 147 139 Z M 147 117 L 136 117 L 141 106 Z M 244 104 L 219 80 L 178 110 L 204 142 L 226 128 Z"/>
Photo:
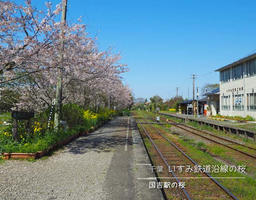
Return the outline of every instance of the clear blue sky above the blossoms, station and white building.
<path id="1" fill-rule="evenodd" d="M 45 1 L 32 2 L 40 8 Z M 88 32 L 99 31 L 100 49 L 114 44 L 122 52 L 130 68 L 123 82 L 135 97 L 166 99 L 179 87 L 186 98 L 189 87 L 191 98 L 190 74 L 207 74 L 256 49 L 255 7 L 251 0 L 68 0 L 67 19 L 84 16 Z M 198 76 L 195 86 L 218 81 L 214 72 Z"/>

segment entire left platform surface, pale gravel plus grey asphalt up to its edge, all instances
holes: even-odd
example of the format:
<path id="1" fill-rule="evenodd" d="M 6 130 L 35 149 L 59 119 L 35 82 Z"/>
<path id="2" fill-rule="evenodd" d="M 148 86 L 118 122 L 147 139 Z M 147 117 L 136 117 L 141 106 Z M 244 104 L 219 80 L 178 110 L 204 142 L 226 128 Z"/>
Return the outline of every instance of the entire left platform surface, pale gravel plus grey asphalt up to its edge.
<path id="1" fill-rule="evenodd" d="M 163 199 L 150 165 L 134 120 L 117 117 L 46 160 L 0 165 L 0 199 Z"/>

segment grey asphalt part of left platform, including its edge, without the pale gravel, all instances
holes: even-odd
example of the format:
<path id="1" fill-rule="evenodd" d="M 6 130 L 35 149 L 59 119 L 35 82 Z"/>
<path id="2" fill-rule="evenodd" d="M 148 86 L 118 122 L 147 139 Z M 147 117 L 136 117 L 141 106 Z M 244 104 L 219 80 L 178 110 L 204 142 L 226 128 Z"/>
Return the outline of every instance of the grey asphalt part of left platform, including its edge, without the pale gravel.
<path id="1" fill-rule="evenodd" d="M 87 137 L 97 136 L 106 138 L 105 147 L 114 148 L 104 183 L 110 199 L 164 199 L 161 189 L 149 188 L 157 180 L 149 179 L 156 176 L 133 117 L 116 117 Z"/>

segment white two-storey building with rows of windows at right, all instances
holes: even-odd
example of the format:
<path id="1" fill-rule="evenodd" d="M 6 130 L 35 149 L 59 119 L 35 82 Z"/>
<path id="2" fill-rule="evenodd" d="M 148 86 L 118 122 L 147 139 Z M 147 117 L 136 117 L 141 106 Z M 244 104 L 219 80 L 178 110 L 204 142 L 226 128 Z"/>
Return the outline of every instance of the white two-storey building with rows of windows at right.
<path id="1" fill-rule="evenodd" d="M 218 70 L 220 114 L 256 118 L 256 53 Z"/>

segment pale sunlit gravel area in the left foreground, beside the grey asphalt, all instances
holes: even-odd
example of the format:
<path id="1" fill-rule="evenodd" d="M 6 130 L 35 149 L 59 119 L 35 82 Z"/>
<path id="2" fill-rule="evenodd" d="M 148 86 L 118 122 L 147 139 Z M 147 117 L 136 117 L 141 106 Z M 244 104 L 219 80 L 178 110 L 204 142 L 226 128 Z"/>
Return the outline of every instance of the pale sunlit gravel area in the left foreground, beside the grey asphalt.
<path id="1" fill-rule="evenodd" d="M 72 144 L 72 143 L 70 143 Z M 0 199 L 106 199 L 102 184 L 113 152 L 70 148 L 47 160 L 10 160 L 0 171 Z"/>

